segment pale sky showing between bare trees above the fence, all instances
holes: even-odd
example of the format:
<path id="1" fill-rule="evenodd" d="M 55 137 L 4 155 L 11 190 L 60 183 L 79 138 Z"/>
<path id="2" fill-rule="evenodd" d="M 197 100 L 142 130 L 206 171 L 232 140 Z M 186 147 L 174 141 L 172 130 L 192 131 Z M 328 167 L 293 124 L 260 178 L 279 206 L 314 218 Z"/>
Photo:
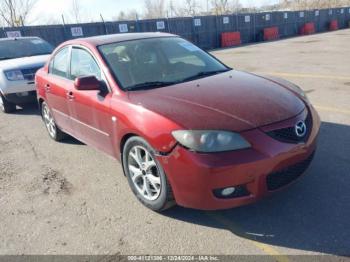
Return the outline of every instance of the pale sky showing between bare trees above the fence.
<path id="1" fill-rule="evenodd" d="M 142 13 L 144 0 L 78 0 L 82 6 L 82 14 L 85 20 L 99 20 L 100 14 L 105 20 L 112 20 L 120 11 L 137 10 Z M 173 0 L 178 3 L 181 0 Z M 198 0 L 206 6 L 207 0 Z M 209 0 L 210 2 L 210 0 Z M 262 4 L 277 2 L 277 0 L 241 0 L 244 6 L 260 6 Z M 61 22 L 61 14 L 69 22 L 69 13 L 72 0 L 38 0 L 35 12 L 31 16 L 31 23 Z"/>

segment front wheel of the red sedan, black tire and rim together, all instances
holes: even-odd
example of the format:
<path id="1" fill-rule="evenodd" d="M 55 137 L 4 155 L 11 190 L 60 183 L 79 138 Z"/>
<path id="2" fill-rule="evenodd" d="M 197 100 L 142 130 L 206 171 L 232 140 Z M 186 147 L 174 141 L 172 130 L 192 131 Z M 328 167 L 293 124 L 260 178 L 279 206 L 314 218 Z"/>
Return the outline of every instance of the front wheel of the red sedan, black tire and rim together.
<path id="1" fill-rule="evenodd" d="M 176 204 L 154 149 L 141 137 L 131 137 L 125 143 L 123 169 L 136 198 L 149 209 L 160 212 Z"/>

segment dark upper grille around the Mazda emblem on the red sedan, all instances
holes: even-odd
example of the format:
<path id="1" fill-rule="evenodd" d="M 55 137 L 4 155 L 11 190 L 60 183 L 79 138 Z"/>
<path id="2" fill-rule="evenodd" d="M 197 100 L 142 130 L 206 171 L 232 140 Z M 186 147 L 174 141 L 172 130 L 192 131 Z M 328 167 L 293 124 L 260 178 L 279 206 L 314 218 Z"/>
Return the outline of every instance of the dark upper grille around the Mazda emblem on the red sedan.
<path id="1" fill-rule="evenodd" d="M 270 137 L 284 142 L 284 143 L 290 143 L 290 144 L 297 144 L 300 142 L 307 142 L 307 140 L 310 137 L 311 131 L 312 131 L 312 117 L 311 114 L 308 114 L 305 119 L 305 124 L 307 127 L 307 133 L 303 137 L 298 137 L 295 132 L 295 127 L 287 127 L 282 129 L 273 130 L 270 132 L 267 132 L 267 135 Z"/>

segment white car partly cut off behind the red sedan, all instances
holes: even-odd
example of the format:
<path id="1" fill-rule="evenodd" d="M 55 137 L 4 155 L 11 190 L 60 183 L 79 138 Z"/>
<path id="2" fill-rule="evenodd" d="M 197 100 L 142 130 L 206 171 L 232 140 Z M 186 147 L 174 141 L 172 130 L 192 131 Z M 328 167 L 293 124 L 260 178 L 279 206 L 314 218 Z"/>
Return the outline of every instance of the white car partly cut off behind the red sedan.
<path id="1" fill-rule="evenodd" d="M 44 66 L 53 47 L 38 37 L 0 39 L 0 109 L 36 101 L 34 78 Z"/>

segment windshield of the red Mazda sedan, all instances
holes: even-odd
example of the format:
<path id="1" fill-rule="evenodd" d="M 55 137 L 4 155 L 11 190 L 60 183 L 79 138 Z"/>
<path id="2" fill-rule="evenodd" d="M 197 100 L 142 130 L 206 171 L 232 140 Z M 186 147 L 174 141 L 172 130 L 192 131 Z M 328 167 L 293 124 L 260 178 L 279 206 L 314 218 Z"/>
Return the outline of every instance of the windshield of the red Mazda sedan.
<path id="1" fill-rule="evenodd" d="M 125 90 L 164 87 L 230 70 L 178 37 L 113 43 L 99 50 Z"/>

